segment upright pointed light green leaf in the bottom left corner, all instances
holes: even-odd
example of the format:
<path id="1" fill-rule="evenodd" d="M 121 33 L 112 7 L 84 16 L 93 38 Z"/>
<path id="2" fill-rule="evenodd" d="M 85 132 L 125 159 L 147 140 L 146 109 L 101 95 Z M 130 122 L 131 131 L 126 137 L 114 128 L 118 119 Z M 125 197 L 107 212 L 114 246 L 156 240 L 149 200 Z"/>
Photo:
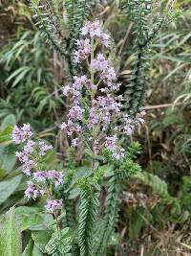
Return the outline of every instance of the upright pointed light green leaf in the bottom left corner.
<path id="1" fill-rule="evenodd" d="M 6 214 L 0 232 L 0 255 L 19 256 L 21 250 L 20 233 L 15 219 L 14 208 Z"/>

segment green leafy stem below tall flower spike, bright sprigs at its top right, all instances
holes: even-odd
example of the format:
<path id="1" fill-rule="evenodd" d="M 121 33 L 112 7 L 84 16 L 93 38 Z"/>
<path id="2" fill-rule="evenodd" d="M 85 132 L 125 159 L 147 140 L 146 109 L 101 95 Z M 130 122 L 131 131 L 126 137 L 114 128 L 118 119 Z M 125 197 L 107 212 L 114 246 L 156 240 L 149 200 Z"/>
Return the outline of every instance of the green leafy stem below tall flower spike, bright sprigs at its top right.
<path id="1" fill-rule="evenodd" d="M 96 228 L 94 256 L 102 256 L 105 254 L 111 236 L 115 231 L 118 219 L 119 195 L 123 188 L 122 181 L 126 180 L 128 176 L 135 175 L 140 171 L 139 165 L 132 160 L 132 158 L 136 157 L 138 150 L 138 144 L 133 144 L 122 162 L 113 159 L 116 167 L 113 175 L 108 180 L 103 219 L 98 222 Z M 107 151 L 105 151 L 104 154 L 105 156 L 107 155 L 107 158 L 111 157 L 110 153 Z M 111 162 L 111 159 L 108 159 L 108 161 Z"/>

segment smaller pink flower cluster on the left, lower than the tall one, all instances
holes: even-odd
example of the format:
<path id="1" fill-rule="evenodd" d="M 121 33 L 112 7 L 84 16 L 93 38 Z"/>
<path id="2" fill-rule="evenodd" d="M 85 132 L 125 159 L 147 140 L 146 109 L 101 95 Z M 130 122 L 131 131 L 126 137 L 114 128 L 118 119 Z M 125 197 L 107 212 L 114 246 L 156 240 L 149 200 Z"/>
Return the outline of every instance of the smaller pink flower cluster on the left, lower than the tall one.
<path id="1" fill-rule="evenodd" d="M 16 143 L 24 143 L 23 150 L 17 151 L 15 155 L 22 163 L 22 170 L 25 175 L 32 177 L 32 180 L 28 181 L 28 187 L 25 191 L 25 197 L 30 199 L 36 199 L 43 195 L 50 197 L 50 188 L 57 187 L 63 182 L 63 175 L 55 170 L 51 171 L 38 171 L 41 166 L 41 158 L 46 154 L 47 151 L 53 149 L 52 145 L 46 144 L 44 141 L 34 142 L 32 140 L 32 131 L 30 125 L 24 125 L 21 128 L 14 127 L 11 134 L 12 140 Z M 47 193 L 49 191 L 49 193 Z M 57 201 L 57 204 L 56 204 Z M 58 208 L 61 207 L 62 203 L 60 200 L 48 201 L 46 209 L 50 213 L 54 213 Z"/>

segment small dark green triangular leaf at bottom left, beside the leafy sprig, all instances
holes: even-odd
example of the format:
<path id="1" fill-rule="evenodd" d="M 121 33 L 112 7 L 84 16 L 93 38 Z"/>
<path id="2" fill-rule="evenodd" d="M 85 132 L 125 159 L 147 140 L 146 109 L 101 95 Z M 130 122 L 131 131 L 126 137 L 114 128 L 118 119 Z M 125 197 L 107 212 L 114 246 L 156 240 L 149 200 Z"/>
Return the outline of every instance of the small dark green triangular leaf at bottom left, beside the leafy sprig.
<path id="1" fill-rule="evenodd" d="M 32 231 L 32 239 L 34 244 L 42 251 L 45 252 L 45 247 L 52 237 L 52 231 L 50 230 L 39 230 Z"/>

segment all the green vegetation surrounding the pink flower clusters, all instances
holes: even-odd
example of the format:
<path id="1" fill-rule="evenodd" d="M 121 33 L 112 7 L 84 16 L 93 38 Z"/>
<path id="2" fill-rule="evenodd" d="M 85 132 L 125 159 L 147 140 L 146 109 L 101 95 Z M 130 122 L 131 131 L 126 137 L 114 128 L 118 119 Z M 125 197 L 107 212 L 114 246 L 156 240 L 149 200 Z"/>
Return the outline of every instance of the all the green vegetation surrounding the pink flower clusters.
<path id="1" fill-rule="evenodd" d="M 62 2 L 0 1 L 0 255 L 190 255 L 190 1 Z M 92 175 L 91 151 L 74 151 L 59 126 L 71 104 L 62 85 L 88 70 L 74 62 L 75 42 L 96 18 L 113 38 L 105 56 L 122 111 L 145 110 L 146 122 L 122 139 L 122 162 L 103 151 Z M 24 197 L 11 132 L 28 123 L 53 145 L 43 168 L 64 170 L 56 221 L 45 198 Z"/>

